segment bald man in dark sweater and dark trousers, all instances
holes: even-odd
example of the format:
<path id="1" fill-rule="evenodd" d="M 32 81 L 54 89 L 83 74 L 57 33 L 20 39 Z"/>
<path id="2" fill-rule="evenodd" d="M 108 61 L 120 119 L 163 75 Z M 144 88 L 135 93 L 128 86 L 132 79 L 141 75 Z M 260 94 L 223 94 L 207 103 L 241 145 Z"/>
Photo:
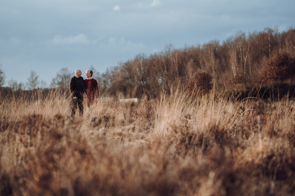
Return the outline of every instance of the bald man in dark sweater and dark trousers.
<path id="1" fill-rule="evenodd" d="M 72 114 L 73 118 L 76 114 L 77 105 L 80 110 L 80 116 L 83 115 L 83 93 L 86 93 L 86 85 L 83 77 L 81 77 L 82 72 L 80 69 L 76 69 L 76 76 L 70 80 L 70 92 L 72 98 Z"/>

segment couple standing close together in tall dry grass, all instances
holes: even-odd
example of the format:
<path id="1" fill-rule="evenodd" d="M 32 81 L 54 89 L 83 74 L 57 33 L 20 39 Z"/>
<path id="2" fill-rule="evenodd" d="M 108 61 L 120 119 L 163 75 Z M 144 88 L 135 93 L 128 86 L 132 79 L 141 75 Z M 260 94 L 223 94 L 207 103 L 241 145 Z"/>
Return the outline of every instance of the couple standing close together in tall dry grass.
<path id="1" fill-rule="evenodd" d="M 75 76 L 70 80 L 70 92 L 72 99 L 71 118 L 76 114 L 77 105 L 80 110 L 80 116 L 83 115 L 83 97 L 86 98 L 87 107 L 94 103 L 94 100 L 99 96 L 97 81 L 92 78 L 93 71 L 86 70 L 87 79 L 83 80 L 82 72 L 76 69 Z"/>

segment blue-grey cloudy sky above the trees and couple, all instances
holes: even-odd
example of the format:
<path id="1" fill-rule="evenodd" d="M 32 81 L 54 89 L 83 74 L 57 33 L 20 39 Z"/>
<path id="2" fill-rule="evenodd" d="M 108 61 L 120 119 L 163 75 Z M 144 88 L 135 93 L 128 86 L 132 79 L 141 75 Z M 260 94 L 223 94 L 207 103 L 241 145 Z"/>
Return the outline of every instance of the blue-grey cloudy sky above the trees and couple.
<path id="1" fill-rule="evenodd" d="M 50 84 L 61 68 L 100 73 L 165 45 L 295 27 L 294 0 L 0 0 L 0 63 L 5 85 L 31 71 Z"/>

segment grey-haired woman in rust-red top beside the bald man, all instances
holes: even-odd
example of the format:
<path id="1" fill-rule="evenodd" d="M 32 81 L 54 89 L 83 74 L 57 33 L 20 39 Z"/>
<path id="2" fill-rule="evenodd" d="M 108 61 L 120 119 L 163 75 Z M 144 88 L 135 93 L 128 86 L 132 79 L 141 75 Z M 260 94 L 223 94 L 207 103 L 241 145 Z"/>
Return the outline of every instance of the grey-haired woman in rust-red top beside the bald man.
<path id="1" fill-rule="evenodd" d="M 85 79 L 85 84 L 86 84 L 86 89 L 87 89 L 87 96 L 86 96 L 86 104 L 87 107 L 93 104 L 94 100 L 98 98 L 99 96 L 99 90 L 98 90 L 98 85 L 97 81 L 92 77 L 93 71 L 90 69 L 86 70 L 86 77 Z"/>

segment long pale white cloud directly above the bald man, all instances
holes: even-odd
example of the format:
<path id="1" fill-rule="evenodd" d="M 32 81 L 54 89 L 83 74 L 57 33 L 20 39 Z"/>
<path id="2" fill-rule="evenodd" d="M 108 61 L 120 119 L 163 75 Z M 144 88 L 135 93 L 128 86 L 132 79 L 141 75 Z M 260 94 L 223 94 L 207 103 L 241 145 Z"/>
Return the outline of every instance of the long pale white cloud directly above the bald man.
<path id="1" fill-rule="evenodd" d="M 86 35 L 79 34 L 77 36 L 67 36 L 63 37 L 60 35 L 55 36 L 52 40 L 49 40 L 50 43 L 54 44 L 66 44 L 66 45 L 76 45 L 76 44 L 87 44 L 89 39 Z"/>

